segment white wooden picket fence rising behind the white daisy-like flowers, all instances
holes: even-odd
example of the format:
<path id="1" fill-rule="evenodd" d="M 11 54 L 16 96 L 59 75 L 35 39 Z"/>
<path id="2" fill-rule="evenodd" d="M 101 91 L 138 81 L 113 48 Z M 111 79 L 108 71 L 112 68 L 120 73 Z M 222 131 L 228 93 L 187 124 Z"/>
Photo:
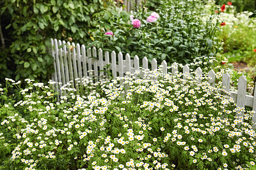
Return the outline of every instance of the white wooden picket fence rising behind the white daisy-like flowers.
<path id="1" fill-rule="evenodd" d="M 95 47 L 86 49 L 84 45 L 79 44 L 70 44 L 69 42 L 60 41 L 57 39 L 51 39 L 51 53 L 54 57 L 54 68 L 55 72 L 52 75 L 52 80 L 62 82 L 63 84 L 74 80 L 72 82 L 72 87 L 79 90 L 79 87 L 76 86 L 76 80 L 82 80 L 83 77 L 93 77 L 99 80 L 99 76 L 106 76 L 103 71 L 109 69 L 111 71 L 113 78 L 116 76 L 125 76 L 126 72 L 134 73 L 137 70 L 140 70 L 140 59 L 136 55 L 134 59 L 131 59 L 129 53 L 124 56 L 119 52 L 116 56 L 116 52 L 113 51 L 109 55 L 109 52 L 102 52 L 101 49 L 97 51 Z M 76 46 L 72 50 L 70 46 Z M 61 48 L 60 48 L 61 47 Z M 116 60 L 116 58 L 118 60 Z M 111 60 L 110 60 L 111 59 Z M 116 63 L 118 62 L 118 64 Z M 110 67 L 106 68 L 109 64 Z M 164 60 L 161 62 L 163 65 L 163 73 L 167 74 L 167 63 Z M 142 67 L 148 69 L 148 59 L 144 57 L 142 60 Z M 153 59 L 151 61 L 151 70 L 154 71 L 157 69 L 157 60 Z M 172 67 L 172 74 L 177 73 L 177 67 Z M 202 69 L 198 67 L 196 70 L 198 75 L 202 75 Z M 183 67 L 183 73 L 189 73 L 188 65 Z M 212 87 L 215 86 L 215 73 L 213 70 L 208 73 L 209 83 Z M 200 80 L 199 80 L 200 81 Z M 254 96 L 246 95 L 246 78 L 241 76 L 238 81 L 237 92 L 230 91 L 230 75 L 228 73 L 223 74 L 222 79 L 223 89 L 230 93 L 230 97 L 236 101 L 237 106 L 244 108 L 244 106 L 252 107 L 253 111 L 256 111 L 256 90 Z M 256 88 L 255 88 L 256 89 Z M 239 113 L 237 116 L 241 116 L 243 113 Z M 256 122 L 256 113 L 253 115 L 253 122 Z"/>

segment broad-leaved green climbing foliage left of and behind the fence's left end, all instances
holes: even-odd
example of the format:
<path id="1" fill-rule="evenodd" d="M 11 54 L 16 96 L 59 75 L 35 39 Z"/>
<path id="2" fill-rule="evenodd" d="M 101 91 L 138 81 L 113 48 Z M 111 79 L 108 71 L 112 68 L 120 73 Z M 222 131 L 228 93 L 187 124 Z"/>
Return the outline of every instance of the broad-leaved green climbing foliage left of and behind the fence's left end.
<path id="1" fill-rule="evenodd" d="M 10 75 L 15 76 L 15 80 L 47 81 L 53 71 L 49 39 L 72 37 L 78 43 L 88 43 L 88 30 L 97 29 L 93 25 L 95 18 L 114 4 L 105 0 L 7 0 L 1 2 L 1 6 L 2 21 L 7 18 L 3 22 L 6 51 L 1 60 L 4 63 L 13 60 L 8 67 L 0 65 L 1 73 L 9 70 L 7 75 L 1 74 L 1 81 Z"/>

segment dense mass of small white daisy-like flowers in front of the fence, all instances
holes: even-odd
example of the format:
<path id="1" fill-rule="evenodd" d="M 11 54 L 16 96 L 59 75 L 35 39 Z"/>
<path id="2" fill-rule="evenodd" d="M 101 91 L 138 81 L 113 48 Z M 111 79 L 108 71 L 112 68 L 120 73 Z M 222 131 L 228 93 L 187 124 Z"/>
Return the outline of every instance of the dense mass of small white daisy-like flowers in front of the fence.
<path id="1" fill-rule="evenodd" d="M 236 107 L 221 90 L 198 76 L 142 70 L 93 82 L 83 93 L 69 85 L 56 100 L 55 82 L 26 80 L 20 101 L 1 91 L 3 169 L 246 169 L 255 164 L 252 111 Z M 205 63 L 214 59 L 204 58 Z M 179 64 L 179 69 L 183 66 Z M 168 67 L 170 69 L 170 67 Z M 202 80 L 202 83 L 198 83 Z M 217 83 L 218 81 L 218 83 Z M 244 117 L 237 117 L 243 113 Z"/>

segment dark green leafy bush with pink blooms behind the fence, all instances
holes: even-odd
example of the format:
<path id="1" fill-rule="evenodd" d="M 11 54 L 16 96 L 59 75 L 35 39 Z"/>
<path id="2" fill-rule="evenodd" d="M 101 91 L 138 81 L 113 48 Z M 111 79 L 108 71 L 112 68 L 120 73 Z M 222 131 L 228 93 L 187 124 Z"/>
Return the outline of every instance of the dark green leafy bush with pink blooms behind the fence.
<path id="1" fill-rule="evenodd" d="M 156 12 L 159 14 L 154 22 L 147 18 L 154 11 L 147 7 L 134 12 L 133 19 L 139 19 L 140 27 L 133 27 L 129 18 L 116 18 L 110 20 L 111 27 L 104 27 L 104 31 L 112 31 L 114 36 L 97 32 L 93 36 L 96 41 L 92 44 L 106 50 L 118 50 L 130 53 L 132 57 L 145 56 L 149 60 L 156 58 L 159 62 L 189 63 L 197 56 L 214 56 L 219 50 L 216 30 L 218 23 L 212 23 L 216 14 L 213 13 L 208 20 L 203 21 L 204 6 L 201 1 L 159 1 Z M 106 14 L 109 15 L 109 14 Z"/>

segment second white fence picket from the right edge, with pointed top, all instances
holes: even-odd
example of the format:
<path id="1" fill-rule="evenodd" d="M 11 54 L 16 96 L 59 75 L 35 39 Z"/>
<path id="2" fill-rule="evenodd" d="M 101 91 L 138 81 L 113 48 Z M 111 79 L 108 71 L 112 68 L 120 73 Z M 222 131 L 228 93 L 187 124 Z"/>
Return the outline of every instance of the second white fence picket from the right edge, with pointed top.
<path id="1" fill-rule="evenodd" d="M 237 106 L 239 106 L 240 108 L 244 108 L 245 106 L 245 97 L 246 97 L 246 83 L 247 80 L 245 78 L 245 76 L 241 76 L 238 80 L 238 89 L 237 89 Z M 243 116 L 243 112 L 240 111 L 241 113 L 237 113 L 238 117 L 242 117 Z"/>

